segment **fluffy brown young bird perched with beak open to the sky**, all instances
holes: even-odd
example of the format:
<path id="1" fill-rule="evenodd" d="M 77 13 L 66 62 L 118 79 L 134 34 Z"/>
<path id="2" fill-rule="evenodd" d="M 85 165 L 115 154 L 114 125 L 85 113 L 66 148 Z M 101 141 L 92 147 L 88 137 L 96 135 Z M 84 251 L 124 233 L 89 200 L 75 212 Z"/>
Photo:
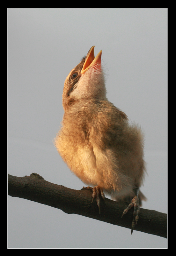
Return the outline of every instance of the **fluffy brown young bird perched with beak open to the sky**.
<path id="1" fill-rule="evenodd" d="M 55 147 L 70 170 L 92 188 L 100 213 L 100 197 L 105 194 L 134 207 L 131 234 L 139 219 L 143 184 L 144 133 L 138 124 L 129 123 L 127 115 L 106 97 L 105 74 L 100 51 L 92 46 L 67 76 L 62 105 L 62 127 Z M 122 217 L 121 216 L 121 217 Z"/>

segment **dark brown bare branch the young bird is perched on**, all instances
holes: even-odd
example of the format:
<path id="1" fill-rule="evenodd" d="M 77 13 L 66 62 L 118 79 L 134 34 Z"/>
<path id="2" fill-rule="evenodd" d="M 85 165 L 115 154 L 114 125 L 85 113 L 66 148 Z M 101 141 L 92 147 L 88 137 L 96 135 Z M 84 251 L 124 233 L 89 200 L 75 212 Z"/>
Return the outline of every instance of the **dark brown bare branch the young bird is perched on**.
<path id="1" fill-rule="evenodd" d="M 96 200 L 91 204 L 91 188 L 82 190 L 66 188 L 50 183 L 36 173 L 23 178 L 8 175 L 8 195 L 46 204 L 69 214 L 75 213 L 131 228 L 133 210 L 131 209 L 121 218 L 126 204 L 106 198 L 106 204 L 101 200 L 101 214 L 99 214 Z M 135 230 L 167 238 L 167 214 L 140 208 L 140 217 Z"/>

